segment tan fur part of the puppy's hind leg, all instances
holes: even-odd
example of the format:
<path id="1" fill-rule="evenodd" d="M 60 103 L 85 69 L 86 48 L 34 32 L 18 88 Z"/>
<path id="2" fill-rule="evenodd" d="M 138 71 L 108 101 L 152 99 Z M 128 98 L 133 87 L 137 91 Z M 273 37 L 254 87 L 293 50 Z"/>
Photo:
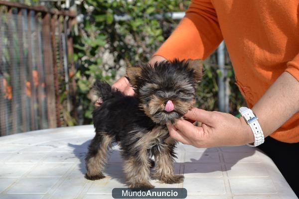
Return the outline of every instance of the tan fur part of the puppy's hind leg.
<path id="1" fill-rule="evenodd" d="M 87 176 L 98 176 L 103 175 L 103 170 L 105 164 L 107 163 L 107 155 L 108 155 L 108 146 L 112 142 L 112 137 L 103 134 L 103 141 L 101 143 L 101 147 L 99 148 L 96 156 L 90 158 L 86 163 L 87 166 Z"/>

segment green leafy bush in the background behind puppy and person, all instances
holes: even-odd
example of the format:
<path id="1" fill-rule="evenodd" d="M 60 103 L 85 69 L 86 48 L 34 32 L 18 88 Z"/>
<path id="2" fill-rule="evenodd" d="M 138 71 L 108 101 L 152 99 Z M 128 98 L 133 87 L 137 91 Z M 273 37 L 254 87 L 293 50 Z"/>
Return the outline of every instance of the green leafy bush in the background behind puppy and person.
<path id="1" fill-rule="evenodd" d="M 113 83 L 125 74 L 125 68 L 147 62 L 154 51 L 177 25 L 165 13 L 185 11 L 186 0 L 85 0 L 79 7 L 84 15 L 79 34 L 74 39 L 76 81 L 78 85 L 79 124 L 91 122 L 94 103 L 90 89 L 96 79 Z M 130 20 L 117 21 L 114 15 Z M 156 18 L 157 14 L 163 19 Z M 207 61 L 209 62 L 209 60 Z M 206 65 L 205 77 L 199 89 L 199 106 L 217 109 L 217 68 Z M 232 74 L 232 72 L 230 73 Z M 233 75 L 231 75 L 234 82 Z M 236 89 L 236 88 L 233 88 Z M 237 90 L 232 91 L 235 93 Z M 236 103 L 241 100 L 236 98 Z M 235 111 L 232 106 L 232 112 Z M 80 114 L 79 114 L 80 115 Z"/>

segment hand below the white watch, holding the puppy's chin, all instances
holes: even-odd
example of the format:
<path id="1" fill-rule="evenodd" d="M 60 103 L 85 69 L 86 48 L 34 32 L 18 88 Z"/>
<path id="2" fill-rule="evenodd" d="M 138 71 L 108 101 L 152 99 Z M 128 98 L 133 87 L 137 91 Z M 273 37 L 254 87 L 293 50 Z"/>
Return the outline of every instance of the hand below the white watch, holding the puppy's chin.
<path id="1" fill-rule="evenodd" d="M 202 126 L 194 126 L 184 119 L 178 119 L 174 125 L 167 124 L 170 136 L 183 144 L 207 148 L 254 142 L 251 128 L 242 117 L 198 108 L 192 108 L 184 116 L 202 122 Z"/>

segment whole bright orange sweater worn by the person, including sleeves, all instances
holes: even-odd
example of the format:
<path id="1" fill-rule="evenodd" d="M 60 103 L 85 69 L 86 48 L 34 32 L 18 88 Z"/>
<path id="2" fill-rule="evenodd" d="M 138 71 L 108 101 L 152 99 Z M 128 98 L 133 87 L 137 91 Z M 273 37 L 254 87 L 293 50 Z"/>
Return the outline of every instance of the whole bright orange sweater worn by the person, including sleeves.
<path id="1" fill-rule="evenodd" d="M 299 0 L 192 0 L 155 55 L 205 59 L 224 39 L 236 84 L 252 107 L 284 71 L 299 81 L 298 9 Z M 299 142 L 299 112 L 271 137 Z"/>

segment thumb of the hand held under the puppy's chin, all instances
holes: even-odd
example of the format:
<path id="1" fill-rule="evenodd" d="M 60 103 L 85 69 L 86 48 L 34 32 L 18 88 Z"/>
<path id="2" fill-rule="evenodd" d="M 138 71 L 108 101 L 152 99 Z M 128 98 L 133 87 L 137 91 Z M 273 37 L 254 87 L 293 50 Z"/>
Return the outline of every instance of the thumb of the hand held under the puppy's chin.
<path id="1" fill-rule="evenodd" d="M 193 107 L 191 110 L 189 110 L 184 116 L 188 119 L 200 121 L 200 122 L 208 124 L 208 125 L 211 125 L 213 122 L 211 120 L 211 112 L 210 111 L 206 111 L 206 110 L 195 108 L 195 107 Z"/>

